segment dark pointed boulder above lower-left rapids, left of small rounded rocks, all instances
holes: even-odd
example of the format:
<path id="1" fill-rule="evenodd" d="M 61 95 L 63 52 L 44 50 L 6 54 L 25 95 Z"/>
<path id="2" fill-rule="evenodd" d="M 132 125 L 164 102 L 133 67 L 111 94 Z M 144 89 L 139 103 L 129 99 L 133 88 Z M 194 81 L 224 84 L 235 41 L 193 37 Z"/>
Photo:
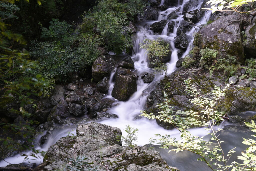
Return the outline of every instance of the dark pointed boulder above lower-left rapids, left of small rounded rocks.
<path id="1" fill-rule="evenodd" d="M 66 100 L 60 100 L 54 108 L 52 108 L 51 113 L 48 116 L 47 121 L 54 120 L 56 123 L 60 124 L 61 119 L 65 119 L 69 116 L 68 104 Z"/>

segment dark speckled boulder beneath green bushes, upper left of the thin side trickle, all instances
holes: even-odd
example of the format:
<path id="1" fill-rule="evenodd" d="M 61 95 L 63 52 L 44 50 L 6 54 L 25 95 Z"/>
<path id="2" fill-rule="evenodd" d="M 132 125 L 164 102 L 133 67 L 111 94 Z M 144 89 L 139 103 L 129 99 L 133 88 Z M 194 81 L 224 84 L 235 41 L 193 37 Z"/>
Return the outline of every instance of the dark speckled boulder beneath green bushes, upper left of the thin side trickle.
<path id="1" fill-rule="evenodd" d="M 92 78 L 99 82 L 104 77 L 109 77 L 114 69 L 115 61 L 112 55 L 100 56 L 92 65 Z"/>

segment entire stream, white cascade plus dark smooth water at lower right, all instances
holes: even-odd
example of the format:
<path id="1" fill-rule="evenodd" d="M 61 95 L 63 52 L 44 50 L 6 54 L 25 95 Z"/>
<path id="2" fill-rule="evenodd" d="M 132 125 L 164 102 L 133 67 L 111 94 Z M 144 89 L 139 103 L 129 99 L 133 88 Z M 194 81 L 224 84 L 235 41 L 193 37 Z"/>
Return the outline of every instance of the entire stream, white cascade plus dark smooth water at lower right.
<path id="1" fill-rule="evenodd" d="M 164 16 L 164 15 L 168 15 L 172 13 L 175 9 L 178 9 L 178 11 L 183 11 L 183 7 L 188 1 L 189 0 L 183 0 L 182 4 L 177 5 L 177 7 L 170 7 L 165 11 L 159 11 L 158 21 L 161 21 L 162 19 L 167 19 L 167 16 Z M 200 9 L 202 3 L 203 1 L 198 1 L 196 5 L 190 6 L 189 11 Z M 161 1 L 161 5 L 162 4 L 164 4 L 164 0 Z M 164 14 L 164 15 L 161 15 L 161 14 Z M 135 69 L 137 70 L 138 75 L 141 75 L 141 73 L 145 71 L 148 73 L 154 73 L 154 71 L 151 68 L 147 67 L 147 60 L 146 60 L 147 54 L 145 53 L 145 49 L 140 49 L 140 43 L 142 43 L 145 38 L 149 38 L 149 39 L 162 38 L 166 42 L 169 42 L 172 50 L 172 55 L 170 57 L 170 61 L 167 63 L 167 66 L 168 66 L 167 72 L 168 74 L 171 74 L 172 72 L 175 71 L 176 69 L 175 65 L 178 60 L 178 55 L 177 55 L 178 49 L 175 48 L 174 46 L 174 39 L 177 36 L 177 28 L 179 27 L 180 22 L 183 20 L 183 14 L 182 13 L 178 13 L 178 14 L 180 16 L 178 16 L 177 19 L 168 20 L 168 22 L 175 21 L 176 23 L 173 29 L 174 30 L 173 33 L 169 33 L 168 35 L 167 35 L 168 22 L 164 27 L 161 35 L 153 35 L 153 31 L 151 31 L 147 27 L 157 21 L 145 21 L 145 22 L 137 23 L 137 28 L 138 28 L 137 39 L 134 43 L 133 50 L 135 53 L 132 55 L 132 59 L 134 61 Z M 202 17 L 201 21 L 196 25 L 199 26 L 201 24 L 205 24 L 209 16 L 210 14 L 206 12 L 205 17 Z M 191 37 L 191 39 L 189 40 L 189 46 L 182 57 L 187 55 L 188 52 L 190 51 L 191 45 L 194 40 L 193 33 L 195 31 L 196 30 L 193 27 L 189 31 L 189 33 L 187 33 L 187 35 Z M 112 78 L 114 77 L 115 71 L 116 71 L 116 68 L 111 73 L 110 84 L 109 84 L 110 85 L 109 94 L 105 98 L 113 99 L 113 97 L 111 96 L 111 92 L 114 86 L 114 82 L 112 82 L 113 80 Z M 148 144 L 149 139 L 151 137 L 154 138 L 155 137 L 154 135 L 157 133 L 162 135 L 167 134 L 167 135 L 171 135 L 172 137 L 179 138 L 179 133 L 176 130 L 166 130 L 158 126 L 155 120 L 148 120 L 146 118 L 138 117 L 141 114 L 140 111 L 143 110 L 145 106 L 147 96 L 152 91 L 154 84 L 157 83 L 162 78 L 163 78 L 162 75 L 160 75 L 159 73 L 156 73 L 153 82 L 144 83 L 143 80 L 139 77 L 137 80 L 137 91 L 130 97 L 130 99 L 126 102 L 120 102 L 116 100 L 114 104 L 118 104 L 118 105 L 113 105 L 114 107 L 108 110 L 108 113 L 115 114 L 118 116 L 118 118 L 101 120 L 99 121 L 99 123 L 120 128 L 124 136 L 126 136 L 126 133 L 123 131 L 123 129 L 125 129 L 126 125 L 129 124 L 134 128 L 138 128 L 139 129 L 137 133 L 138 140 L 136 144 L 140 146 Z M 220 127 L 225 127 L 225 126 L 230 128 L 230 123 L 228 122 L 226 122 L 225 124 L 223 123 Z M 37 147 L 37 149 L 47 151 L 48 147 L 56 143 L 56 141 L 59 138 L 67 136 L 68 132 L 72 132 L 74 129 L 75 128 L 67 128 L 65 130 L 55 130 L 55 132 L 49 137 L 48 142 L 41 147 Z M 198 136 L 205 136 L 207 133 L 204 128 L 194 128 L 194 129 L 191 129 L 191 132 Z M 246 135 L 244 135 L 244 131 L 242 130 L 239 131 L 237 129 L 231 129 L 231 130 L 227 129 L 222 131 L 221 136 L 226 141 L 225 149 L 228 150 L 230 148 L 233 148 L 234 146 L 237 146 L 238 147 L 237 151 L 240 151 L 240 152 L 241 150 L 245 149 L 241 145 L 242 137 L 243 136 L 246 137 Z M 182 152 L 178 154 L 168 153 L 168 150 L 159 149 L 158 146 L 154 146 L 154 147 L 156 150 L 160 152 L 162 157 L 166 160 L 166 162 L 169 165 L 178 167 L 180 170 L 198 170 L 198 171 L 209 170 L 207 167 L 204 166 L 204 164 L 197 161 L 196 156 L 191 155 L 190 153 L 186 153 L 186 152 Z M 29 159 L 35 159 L 35 158 L 29 157 Z M 16 155 L 14 157 L 9 157 L 5 159 L 5 161 L 10 163 L 22 163 L 23 160 L 24 160 L 24 157 L 21 157 L 20 155 Z M 1 161 L 0 166 L 6 166 L 8 163 L 6 163 L 5 161 Z M 39 164 L 42 162 L 42 159 L 38 158 L 35 160 L 30 160 L 30 162 Z"/>

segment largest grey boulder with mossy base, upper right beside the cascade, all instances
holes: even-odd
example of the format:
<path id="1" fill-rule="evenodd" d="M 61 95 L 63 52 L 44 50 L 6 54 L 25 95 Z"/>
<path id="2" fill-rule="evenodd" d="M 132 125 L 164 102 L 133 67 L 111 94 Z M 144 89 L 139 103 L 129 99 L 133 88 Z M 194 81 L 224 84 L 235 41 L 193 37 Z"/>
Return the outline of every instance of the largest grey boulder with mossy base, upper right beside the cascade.
<path id="1" fill-rule="evenodd" d="M 244 50 L 240 32 L 238 14 L 221 16 L 197 33 L 194 44 L 201 49 L 218 50 L 217 57 L 224 58 L 226 55 L 231 55 L 243 61 Z"/>

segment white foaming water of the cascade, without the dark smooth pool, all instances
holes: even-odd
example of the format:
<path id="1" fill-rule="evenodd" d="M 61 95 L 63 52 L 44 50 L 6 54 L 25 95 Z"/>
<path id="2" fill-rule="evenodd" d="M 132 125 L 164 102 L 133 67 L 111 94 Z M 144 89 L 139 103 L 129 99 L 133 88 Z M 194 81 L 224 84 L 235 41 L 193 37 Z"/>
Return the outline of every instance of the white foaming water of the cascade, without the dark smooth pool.
<path id="1" fill-rule="evenodd" d="M 189 0 L 184 0 L 183 4 L 181 4 L 177 7 L 171 7 L 171 8 L 168 8 L 166 11 L 159 12 L 158 21 L 161 21 L 162 19 L 167 19 L 166 16 L 163 16 L 161 14 L 168 15 L 179 7 L 180 7 L 179 10 L 182 11 L 184 4 L 188 1 Z M 200 9 L 202 2 L 199 2 L 196 6 L 191 6 L 189 10 L 192 11 L 194 9 Z M 161 5 L 163 3 L 164 3 L 164 1 L 162 0 Z M 210 16 L 209 14 L 206 14 L 206 17 L 202 18 L 202 20 L 199 23 L 197 23 L 196 25 L 205 24 L 206 21 L 208 20 L 209 16 Z M 168 22 L 178 21 L 180 23 L 183 20 L 182 17 L 183 17 L 183 15 L 180 13 L 180 16 L 177 19 L 169 20 Z M 139 24 L 140 25 L 144 25 L 144 24 L 151 25 L 154 22 L 157 22 L 157 21 L 146 21 L 146 22 L 141 22 Z M 146 62 L 147 54 L 145 53 L 145 49 L 140 49 L 140 43 L 142 43 L 145 38 L 149 38 L 149 39 L 162 38 L 165 41 L 170 43 L 172 55 L 170 56 L 170 61 L 167 63 L 167 66 L 168 66 L 167 72 L 168 72 L 168 74 L 171 74 L 172 72 L 175 71 L 175 69 L 176 69 L 175 65 L 178 60 L 178 56 L 177 56 L 178 49 L 176 49 L 174 46 L 174 39 L 177 36 L 177 28 L 179 26 L 179 23 L 175 24 L 174 32 L 167 35 L 168 22 L 167 22 L 165 28 L 163 29 L 162 34 L 159 36 L 153 35 L 152 31 L 150 31 L 142 26 L 137 26 L 139 31 L 137 31 L 137 40 L 135 41 L 134 48 L 133 48 L 135 54 L 133 54 L 132 59 L 134 61 L 134 66 L 135 66 L 135 69 L 137 70 L 138 75 L 141 75 L 141 73 L 143 73 L 145 71 L 148 73 L 154 72 L 151 68 L 147 67 L 147 62 Z M 195 32 L 195 28 L 192 28 L 191 31 L 187 35 L 193 37 L 192 35 L 194 32 Z M 189 46 L 182 57 L 184 57 L 185 55 L 188 54 L 188 52 L 191 49 L 192 43 L 193 43 L 193 38 L 190 40 Z M 113 77 L 114 77 L 115 70 L 116 70 L 116 68 L 110 75 L 109 95 L 106 96 L 105 98 L 113 99 L 113 97 L 111 96 L 111 92 L 114 87 Z M 116 114 L 118 116 L 118 118 L 102 120 L 102 121 L 99 121 L 99 123 L 120 128 L 122 130 L 122 133 L 124 136 L 126 136 L 126 133 L 123 131 L 123 129 L 125 129 L 126 125 L 129 124 L 130 126 L 132 126 L 134 128 L 138 128 L 139 129 L 138 134 L 137 134 L 138 141 L 136 142 L 136 144 L 141 145 L 141 146 L 147 144 L 149 139 L 151 137 L 154 137 L 154 135 L 157 133 L 162 134 L 162 135 L 168 134 L 168 135 L 172 135 L 173 137 L 179 138 L 179 133 L 176 130 L 165 130 L 162 127 L 158 126 L 157 123 L 155 122 L 155 120 L 148 120 L 146 118 L 134 119 L 136 116 L 141 114 L 140 111 L 143 110 L 146 100 L 147 100 L 147 96 L 150 94 L 153 85 L 156 82 L 158 82 L 159 80 L 161 80 L 162 78 L 163 78 L 163 76 L 160 75 L 159 73 L 157 73 L 157 74 L 155 74 L 155 78 L 154 78 L 153 82 L 144 83 L 143 80 L 139 77 L 137 80 L 137 92 L 135 92 L 130 97 L 130 99 L 126 102 L 116 101 L 115 104 L 119 103 L 119 105 L 117 105 L 117 106 L 114 105 L 114 107 L 112 107 L 110 110 L 108 110 L 108 113 Z M 147 91 L 144 91 L 145 89 L 147 89 Z M 56 130 L 49 137 L 47 143 L 44 144 L 42 147 L 37 147 L 37 149 L 47 151 L 47 149 L 52 144 L 56 143 L 56 141 L 59 138 L 67 136 L 68 132 L 72 131 L 72 129 L 75 129 L 75 128 L 67 128 L 65 130 Z M 206 135 L 206 131 L 203 128 L 191 129 L 191 132 L 193 132 L 195 135 L 198 135 L 198 136 Z M 27 153 L 30 153 L 30 152 L 27 152 Z M 31 162 L 31 163 L 39 164 L 42 162 L 41 158 L 29 157 L 29 159 L 30 159 L 29 162 Z M 28 162 L 28 161 L 24 161 L 24 157 L 21 157 L 20 155 L 6 158 L 5 161 L 7 161 L 9 163 Z M 0 162 L 0 166 L 6 166 L 9 164 L 9 163 L 6 163 L 5 161 L 2 160 Z"/>

